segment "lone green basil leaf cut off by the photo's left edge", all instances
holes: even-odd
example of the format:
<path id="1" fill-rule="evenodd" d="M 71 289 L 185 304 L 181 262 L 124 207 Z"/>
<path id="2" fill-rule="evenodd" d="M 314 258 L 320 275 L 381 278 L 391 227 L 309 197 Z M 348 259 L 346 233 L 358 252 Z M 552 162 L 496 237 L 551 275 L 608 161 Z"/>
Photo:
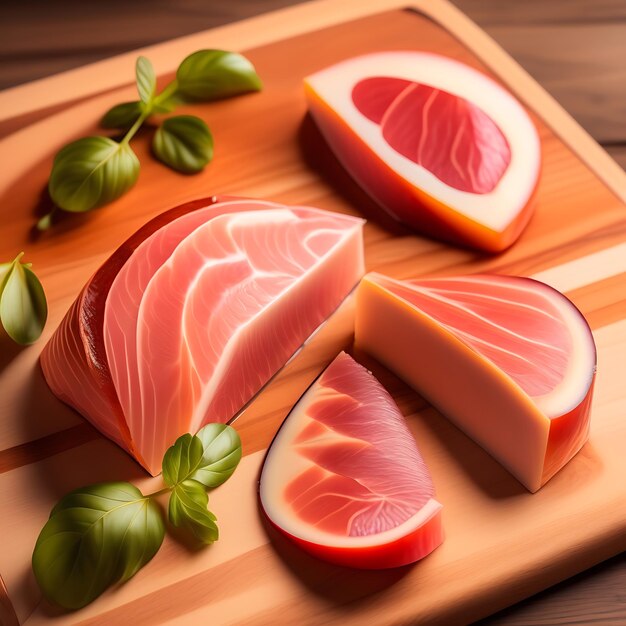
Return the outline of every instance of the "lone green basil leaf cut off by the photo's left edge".
<path id="1" fill-rule="evenodd" d="M 1 281 L 0 321 L 13 341 L 28 345 L 41 336 L 48 318 L 48 305 L 39 279 L 20 263 L 22 254 L 10 264 Z"/>

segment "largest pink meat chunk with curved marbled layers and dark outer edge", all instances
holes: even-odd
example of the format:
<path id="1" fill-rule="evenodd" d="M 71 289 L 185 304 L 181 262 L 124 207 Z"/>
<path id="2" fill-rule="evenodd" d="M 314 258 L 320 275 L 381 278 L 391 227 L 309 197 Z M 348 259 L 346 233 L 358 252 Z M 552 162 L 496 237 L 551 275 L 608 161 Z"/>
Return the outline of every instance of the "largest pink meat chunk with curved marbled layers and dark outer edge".
<path id="1" fill-rule="evenodd" d="M 179 435 L 232 419 L 362 273 L 357 218 L 256 200 L 184 205 L 96 272 L 44 349 L 44 374 L 156 474 Z"/>

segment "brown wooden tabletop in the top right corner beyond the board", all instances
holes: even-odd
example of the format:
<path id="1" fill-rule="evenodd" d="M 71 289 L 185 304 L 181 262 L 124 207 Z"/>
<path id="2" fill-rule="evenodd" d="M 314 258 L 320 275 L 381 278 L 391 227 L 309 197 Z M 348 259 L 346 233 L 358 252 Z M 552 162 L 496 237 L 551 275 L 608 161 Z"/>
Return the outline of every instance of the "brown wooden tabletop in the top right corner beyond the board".
<path id="1" fill-rule="evenodd" d="M 626 4 L 455 0 L 626 169 Z"/>

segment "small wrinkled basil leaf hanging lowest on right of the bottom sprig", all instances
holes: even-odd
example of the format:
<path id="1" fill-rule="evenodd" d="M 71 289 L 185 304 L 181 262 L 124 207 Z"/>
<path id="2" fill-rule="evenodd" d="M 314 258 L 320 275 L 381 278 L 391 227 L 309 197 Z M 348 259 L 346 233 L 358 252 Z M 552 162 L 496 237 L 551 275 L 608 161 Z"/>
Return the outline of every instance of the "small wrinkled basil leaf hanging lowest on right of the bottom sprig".
<path id="1" fill-rule="evenodd" d="M 185 480 L 174 487 L 170 495 L 169 519 L 177 528 L 190 530 L 203 543 L 213 543 L 219 537 L 216 517 L 207 509 L 209 497 L 195 480 Z"/>

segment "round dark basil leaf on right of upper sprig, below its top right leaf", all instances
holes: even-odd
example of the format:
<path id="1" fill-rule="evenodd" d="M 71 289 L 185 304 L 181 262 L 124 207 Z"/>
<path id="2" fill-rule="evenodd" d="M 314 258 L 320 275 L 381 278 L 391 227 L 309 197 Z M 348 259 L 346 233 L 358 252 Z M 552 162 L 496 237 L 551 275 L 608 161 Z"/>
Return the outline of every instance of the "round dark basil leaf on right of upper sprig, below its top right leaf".
<path id="1" fill-rule="evenodd" d="M 185 174 L 202 170 L 213 158 L 213 137 L 208 126 L 193 115 L 166 119 L 152 141 L 156 157 Z"/>

